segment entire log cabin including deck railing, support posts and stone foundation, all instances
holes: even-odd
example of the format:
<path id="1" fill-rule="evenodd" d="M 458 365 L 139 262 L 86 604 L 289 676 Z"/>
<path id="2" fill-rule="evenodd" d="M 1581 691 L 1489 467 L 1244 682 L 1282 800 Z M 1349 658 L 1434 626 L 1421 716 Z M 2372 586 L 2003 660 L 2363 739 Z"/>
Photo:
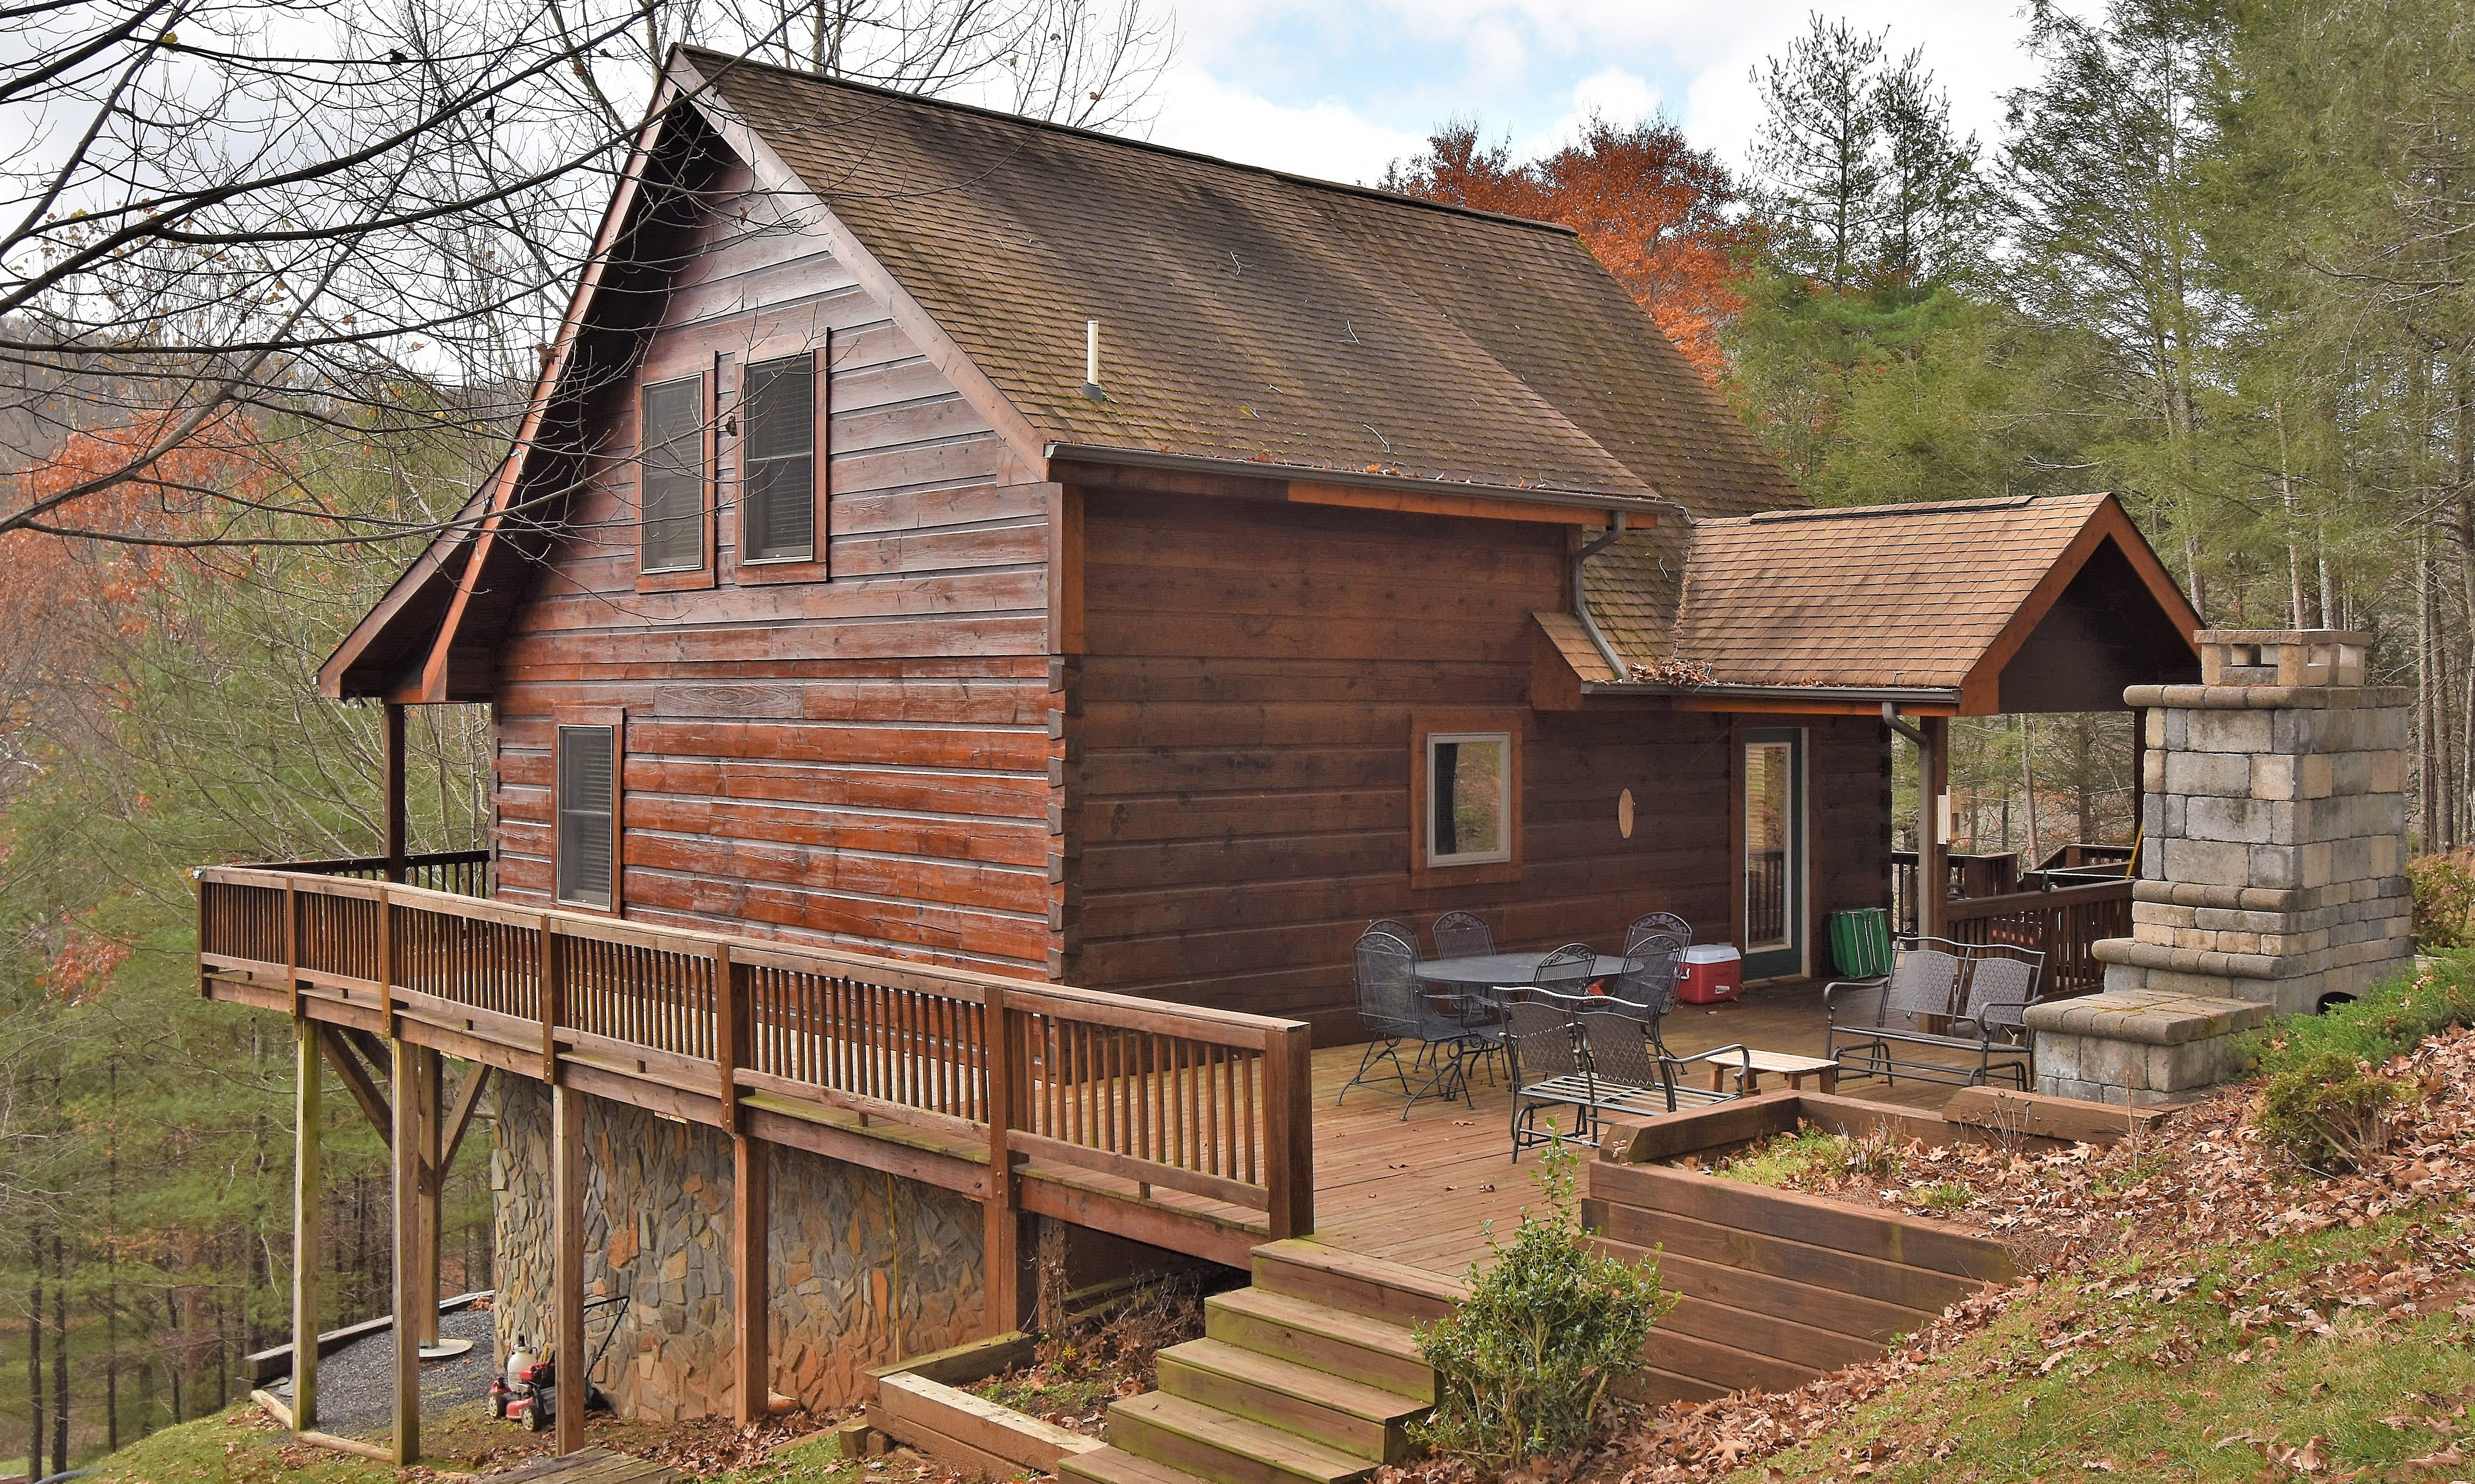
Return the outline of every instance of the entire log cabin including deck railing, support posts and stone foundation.
<path id="1" fill-rule="evenodd" d="M 1366 920 L 1819 977 L 1896 735 L 1940 881 L 1950 717 L 2195 628 L 2111 495 L 1814 510 L 1567 228 L 681 49 L 505 465 L 319 670 L 384 853 L 203 871 L 200 987 L 295 1017 L 302 1190 L 322 1066 L 391 1128 L 398 1313 L 493 1078 L 502 1348 L 582 1373 L 658 1259 L 626 1407 L 839 1407 L 1022 1323 L 1025 1219 L 1339 1239 Z M 408 705 L 493 710 L 485 861 L 406 856 Z M 1520 1202 L 1460 1190 L 1450 1271 Z"/>

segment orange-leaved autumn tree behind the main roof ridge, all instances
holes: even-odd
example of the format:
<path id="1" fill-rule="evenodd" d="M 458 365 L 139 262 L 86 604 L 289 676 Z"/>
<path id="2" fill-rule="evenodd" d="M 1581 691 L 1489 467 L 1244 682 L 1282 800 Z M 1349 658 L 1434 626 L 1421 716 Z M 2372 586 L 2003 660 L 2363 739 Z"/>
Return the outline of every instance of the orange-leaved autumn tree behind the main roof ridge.
<path id="1" fill-rule="evenodd" d="M 1718 381 L 1718 334 L 1745 307 L 1735 279 L 1755 228 L 1732 210 L 1728 166 L 1666 119 L 1594 116 L 1574 143 L 1525 166 L 1510 143 L 1480 143 L 1478 124 L 1455 119 L 1428 136 L 1428 153 L 1386 171 L 1384 188 L 1574 228 L 1693 369 Z"/>

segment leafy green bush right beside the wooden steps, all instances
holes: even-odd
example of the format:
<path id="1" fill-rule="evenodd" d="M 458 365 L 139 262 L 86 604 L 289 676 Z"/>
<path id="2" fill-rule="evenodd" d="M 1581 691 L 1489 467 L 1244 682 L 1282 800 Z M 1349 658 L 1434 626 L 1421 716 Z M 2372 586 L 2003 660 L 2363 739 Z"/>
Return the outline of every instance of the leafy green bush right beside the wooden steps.
<path id="1" fill-rule="evenodd" d="M 1428 1447 L 1510 1464 L 1572 1452 L 1589 1437 L 1606 1388 L 1641 1363 L 1676 1298 L 1658 1261 L 1594 1252 L 1574 1205 L 1574 1155 L 1549 1145 L 1537 1182 L 1544 1212 L 1522 1212 L 1512 1242 L 1487 1239 L 1495 1266 L 1470 1269 L 1470 1298 L 1418 1331 L 1418 1353 L 1440 1378 Z"/>

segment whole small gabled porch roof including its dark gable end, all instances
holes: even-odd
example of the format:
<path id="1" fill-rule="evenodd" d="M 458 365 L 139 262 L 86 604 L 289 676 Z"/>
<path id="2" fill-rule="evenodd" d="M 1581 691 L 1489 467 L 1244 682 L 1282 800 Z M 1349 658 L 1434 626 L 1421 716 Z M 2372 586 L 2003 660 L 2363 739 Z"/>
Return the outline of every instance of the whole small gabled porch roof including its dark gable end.
<path id="1" fill-rule="evenodd" d="M 1770 510 L 1624 537 L 1591 559 L 1589 611 L 1542 613 L 1589 693 L 1755 693 L 1955 707 L 2114 710 L 2124 685 L 2198 675 L 2198 613 L 2114 495 Z M 1666 685 L 1666 660 L 1705 685 Z M 1673 670 L 1671 670 L 1673 673 Z"/>

